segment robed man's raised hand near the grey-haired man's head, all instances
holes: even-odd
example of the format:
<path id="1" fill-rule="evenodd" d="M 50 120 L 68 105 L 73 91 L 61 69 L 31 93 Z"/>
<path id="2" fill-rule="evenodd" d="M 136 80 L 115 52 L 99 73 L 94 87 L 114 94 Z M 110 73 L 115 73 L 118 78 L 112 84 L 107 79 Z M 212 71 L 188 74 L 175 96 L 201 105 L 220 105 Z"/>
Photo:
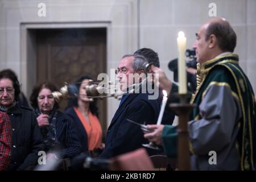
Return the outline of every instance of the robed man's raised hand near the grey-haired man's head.
<path id="1" fill-rule="evenodd" d="M 171 92 L 172 82 L 167 78 L 166 73 L 158 67 L 151 65 L 150 73 L 152 73 L 152 82 L 155 82 L 155 78 L 157 78 L 156 74 L 158 74 L 158 86 L 159 88 L 166 90 L 167 94 Z"/>

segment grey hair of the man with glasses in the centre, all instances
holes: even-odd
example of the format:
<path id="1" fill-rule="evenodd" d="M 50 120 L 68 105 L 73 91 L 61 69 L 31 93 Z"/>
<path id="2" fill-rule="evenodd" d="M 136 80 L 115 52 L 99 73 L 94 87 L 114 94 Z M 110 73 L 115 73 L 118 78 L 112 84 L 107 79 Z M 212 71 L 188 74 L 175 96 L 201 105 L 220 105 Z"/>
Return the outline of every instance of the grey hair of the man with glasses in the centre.
<path id="1" fill-rule="evenodd" d="M 143 70 L 144 73 L 146 74 L 146 65 L 147 65 L 147 60 L 144 56 L 141 55 L 124 55 L 122 58 L 125 57 L 134 57 L 133 63 L 132 63 L 132 67 L 134 69 L 135 72 L 141 71 Z"/>

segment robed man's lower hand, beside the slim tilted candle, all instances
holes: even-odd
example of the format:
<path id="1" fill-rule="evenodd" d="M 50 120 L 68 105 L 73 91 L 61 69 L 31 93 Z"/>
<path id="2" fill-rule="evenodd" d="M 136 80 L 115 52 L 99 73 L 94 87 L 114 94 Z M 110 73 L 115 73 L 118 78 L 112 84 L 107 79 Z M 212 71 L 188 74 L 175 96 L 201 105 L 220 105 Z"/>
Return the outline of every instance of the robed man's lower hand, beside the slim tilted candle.
<path id="1" fill-rule="evenodd" d="M 144 133 L 144 138 L 148 139 L 150 142 L 163 145 L 162 133 L 164 125 L 147 125 L 149 130 L 154 130 L 151 133 Z"/>

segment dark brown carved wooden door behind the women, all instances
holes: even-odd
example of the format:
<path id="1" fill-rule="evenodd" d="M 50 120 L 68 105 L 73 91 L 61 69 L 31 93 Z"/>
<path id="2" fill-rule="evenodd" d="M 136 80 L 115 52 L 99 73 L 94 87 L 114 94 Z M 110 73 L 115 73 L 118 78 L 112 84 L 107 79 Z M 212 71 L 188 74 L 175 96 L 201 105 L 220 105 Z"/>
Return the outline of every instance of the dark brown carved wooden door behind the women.
<path id="1" fill-rule="evenodd" d="M 94 81 L 106 72 L 106 28 L 38 30 L 37 82 L 50 81 L 57 88 L 83 75 Z M 106 127 L 106 100 L 97 101 L 99 119 Z M 61 110 L 67 101 L 60 102 Z"/>

